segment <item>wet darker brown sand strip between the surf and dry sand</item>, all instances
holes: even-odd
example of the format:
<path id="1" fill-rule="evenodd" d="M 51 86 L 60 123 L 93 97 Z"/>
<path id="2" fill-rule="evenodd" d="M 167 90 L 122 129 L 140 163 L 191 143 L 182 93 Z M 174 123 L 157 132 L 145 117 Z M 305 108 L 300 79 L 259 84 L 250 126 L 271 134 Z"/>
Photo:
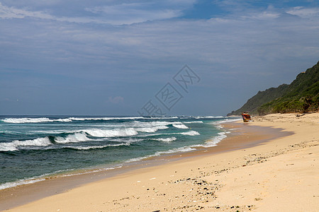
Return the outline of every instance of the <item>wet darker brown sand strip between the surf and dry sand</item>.
<path id="1" fill-rule="evenodd" d="M 159 155 L 152 158 L 140 160 L 136 163 L 129 163 L 113 170 L 101 170 L 99 172 L 79 173 L 79 175 L 71 176 L 57 176 L 50 177 L 43 181 L 32 184 L 23 184 L 17 187 L 10 187 L 0 190 L 0 211 L 7 210 L 29 202 L 43 199 L 47 196 L 61 194 L 69 189 L 80 187 L 84 184 L 99 181 L 101 179 L 108 179 L 123 175 L 133 170 L 141 170 L 147 167 L 156 167 L 172 163 L 178 160 L 185 160 L 186 158 L 205 157 L 206 155 L 223 153 L 226 151 L 235 151 L 241 148 L 256 146 L 259 143 L 267 142 L 269 139 L 286 136 L 289 133 L 284 133 L 281 129 L 272 129 L 269 127 L 242 125 L 236 122 L 226 122 L 221 124 L 225 129 L 234 129 L 231 134 L 225 139 L 222 139 L 217 146 L 213 147 L 198 147 L 196 151 L 181 152 Z M 245 141 L 247 134 L 250 138 Z M 235 143 L 235 142 L 236 143 Z M 239 143 L 238 143 L 239 142 Z"/>

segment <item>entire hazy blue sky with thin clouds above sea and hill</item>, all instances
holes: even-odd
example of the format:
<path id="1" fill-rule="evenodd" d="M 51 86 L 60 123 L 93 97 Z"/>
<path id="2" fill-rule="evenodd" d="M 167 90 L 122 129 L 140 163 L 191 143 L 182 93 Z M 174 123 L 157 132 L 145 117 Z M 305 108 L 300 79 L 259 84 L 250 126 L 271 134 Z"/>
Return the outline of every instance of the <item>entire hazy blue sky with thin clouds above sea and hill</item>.
<path id="1" fill-rule="evenodd" d="M 319 1 L 0 0 L 0 114 L 225 115 L 318 37 Z"/>

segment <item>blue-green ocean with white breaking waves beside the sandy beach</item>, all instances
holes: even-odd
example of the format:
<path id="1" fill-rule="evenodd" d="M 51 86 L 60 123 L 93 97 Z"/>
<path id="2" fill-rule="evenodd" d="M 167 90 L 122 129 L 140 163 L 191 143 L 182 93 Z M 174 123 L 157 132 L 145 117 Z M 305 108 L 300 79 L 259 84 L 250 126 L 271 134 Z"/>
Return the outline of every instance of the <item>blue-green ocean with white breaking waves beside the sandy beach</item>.
<path id="1" fill-rule="evenodd" d="M 230 117 L 0 116 L 0 189 L 212 147 Z"/>

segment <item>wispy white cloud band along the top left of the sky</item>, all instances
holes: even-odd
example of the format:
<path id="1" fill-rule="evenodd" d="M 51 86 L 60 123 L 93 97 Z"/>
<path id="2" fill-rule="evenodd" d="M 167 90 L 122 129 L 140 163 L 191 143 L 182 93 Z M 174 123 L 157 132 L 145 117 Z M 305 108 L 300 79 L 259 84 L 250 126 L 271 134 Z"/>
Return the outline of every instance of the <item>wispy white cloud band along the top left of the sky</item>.
<path id="1" fill-rule="evenodd" d="M 54 16 L 45 11 L 30 11 L 30 8 L 16 8 L 0 3 L 0 18 L 40 18 L 47 20 L 57 20 L 69 23 L 103 23 L 110 25 L 130 25 L 132 23 L 142 23 L 152 20 L 164 20 L 176 18 L 183 14 L 183 10 L 194 4 L 194 0 L 188 1 L 153 1 L 121 3 L 106 1 L 104 6 L 89 6 L 86 8 L 74 8 L 79 10 L 75 13 L 85 14 L 84 16 Z M 51 12 L 52 9 L 48 10 Z M 58 11 L 56 9 L 56 11 Z M 73 13 L 72 9 L 69 13 Z"/>

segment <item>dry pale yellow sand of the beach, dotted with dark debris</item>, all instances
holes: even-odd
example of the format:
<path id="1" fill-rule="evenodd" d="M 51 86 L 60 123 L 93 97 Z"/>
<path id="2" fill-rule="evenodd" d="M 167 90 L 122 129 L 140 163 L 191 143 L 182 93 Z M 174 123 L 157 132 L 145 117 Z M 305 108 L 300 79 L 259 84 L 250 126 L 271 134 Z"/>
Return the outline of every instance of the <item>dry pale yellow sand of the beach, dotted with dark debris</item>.
<path id="1" fill-rule="evenodd" d="M 318 211 L 319 113 L 269 114 L 247 125 L 293 134 L 133 170 L 9 211 Z"/>

